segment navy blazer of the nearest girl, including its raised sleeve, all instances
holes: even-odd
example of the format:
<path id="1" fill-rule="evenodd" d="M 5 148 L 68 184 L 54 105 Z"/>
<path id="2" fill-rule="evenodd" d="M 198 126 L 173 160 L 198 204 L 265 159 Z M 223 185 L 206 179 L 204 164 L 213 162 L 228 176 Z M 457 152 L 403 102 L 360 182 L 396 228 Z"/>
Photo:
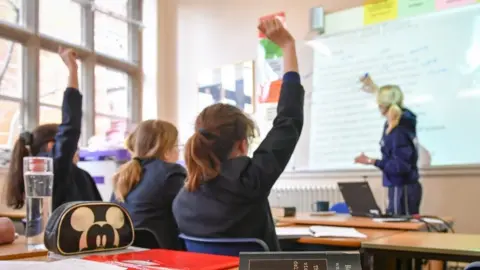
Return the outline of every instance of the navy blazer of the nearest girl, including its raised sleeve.
<path id="1" fill-rule="evenodd" d="M 181 233 L 205 238 L 257 238 L 270 250 L 280 250 L 268 195 L 300 138 L 304 95 L 298 73 L 286 73 L 277 117 L 253 157 L 222 162 L 220 175 L 196 191 L 182 188 L 173 202 Z"/>

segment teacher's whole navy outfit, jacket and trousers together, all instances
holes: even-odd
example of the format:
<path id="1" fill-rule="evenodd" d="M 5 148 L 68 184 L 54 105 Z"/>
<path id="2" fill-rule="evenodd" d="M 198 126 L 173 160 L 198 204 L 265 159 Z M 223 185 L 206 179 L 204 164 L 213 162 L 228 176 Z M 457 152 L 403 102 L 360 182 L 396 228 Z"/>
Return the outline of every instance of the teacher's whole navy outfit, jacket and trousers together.
<path id="1" fill-rule="evenodd" d="M 418 214 L 422 187 L 418 173 L 417 117 L 403 108 L 397 127 L 380 141 L 382 159 L 375 166 L 383 172 L 383 185 L 388 188 L 387 213 L 396 215 Z"/>

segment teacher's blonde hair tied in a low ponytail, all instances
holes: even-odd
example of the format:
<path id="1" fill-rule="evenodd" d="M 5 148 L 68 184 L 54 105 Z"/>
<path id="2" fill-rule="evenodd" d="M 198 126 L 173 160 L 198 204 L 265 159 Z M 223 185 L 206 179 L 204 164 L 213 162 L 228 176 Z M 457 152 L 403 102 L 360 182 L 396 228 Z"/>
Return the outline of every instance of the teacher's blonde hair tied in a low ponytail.
<path id="1" fill-rule="evenodd" d="M 377 92 L 377 104 L 388 108 L 385 116 L 387 117 L 388 127 L 386 134 L 400 123 L 403 107 L 403 92 L 398 85 L 384 85 Z"/>

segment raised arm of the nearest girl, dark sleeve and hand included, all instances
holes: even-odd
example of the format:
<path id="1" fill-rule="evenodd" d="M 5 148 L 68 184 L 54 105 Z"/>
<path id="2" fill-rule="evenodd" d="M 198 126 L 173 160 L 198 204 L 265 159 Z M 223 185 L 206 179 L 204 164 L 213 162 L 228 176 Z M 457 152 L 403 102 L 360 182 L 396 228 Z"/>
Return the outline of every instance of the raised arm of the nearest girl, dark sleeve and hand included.
<path id="1" fill-rule="evenodd" d="M 285 74 L 277 107 L 277 116 L 257 150 L 249 171 L 254 196 L 268 196 L 273 184 L 285 170 L 303 127 L 305 91 L 300 84 L 295 40 L 277 19 L 260 23 L 259 30 L 283 49 Z"/>

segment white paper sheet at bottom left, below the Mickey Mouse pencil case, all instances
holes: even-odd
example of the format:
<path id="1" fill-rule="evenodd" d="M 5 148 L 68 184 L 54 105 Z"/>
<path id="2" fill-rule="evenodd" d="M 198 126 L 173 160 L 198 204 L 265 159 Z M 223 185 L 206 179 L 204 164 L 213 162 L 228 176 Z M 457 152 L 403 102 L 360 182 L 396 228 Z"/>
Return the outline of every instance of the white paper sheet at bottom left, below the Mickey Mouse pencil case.
<path id="1" fill-rule="evenodd" d="M 42 263 L 39 265 L 30 265 L 24 267 L 24 270 L 126 270 L 127 268 L 99 263 L 94 261 L 87 261 L 81 259 L 67 259 L 49 263 Z"/>

